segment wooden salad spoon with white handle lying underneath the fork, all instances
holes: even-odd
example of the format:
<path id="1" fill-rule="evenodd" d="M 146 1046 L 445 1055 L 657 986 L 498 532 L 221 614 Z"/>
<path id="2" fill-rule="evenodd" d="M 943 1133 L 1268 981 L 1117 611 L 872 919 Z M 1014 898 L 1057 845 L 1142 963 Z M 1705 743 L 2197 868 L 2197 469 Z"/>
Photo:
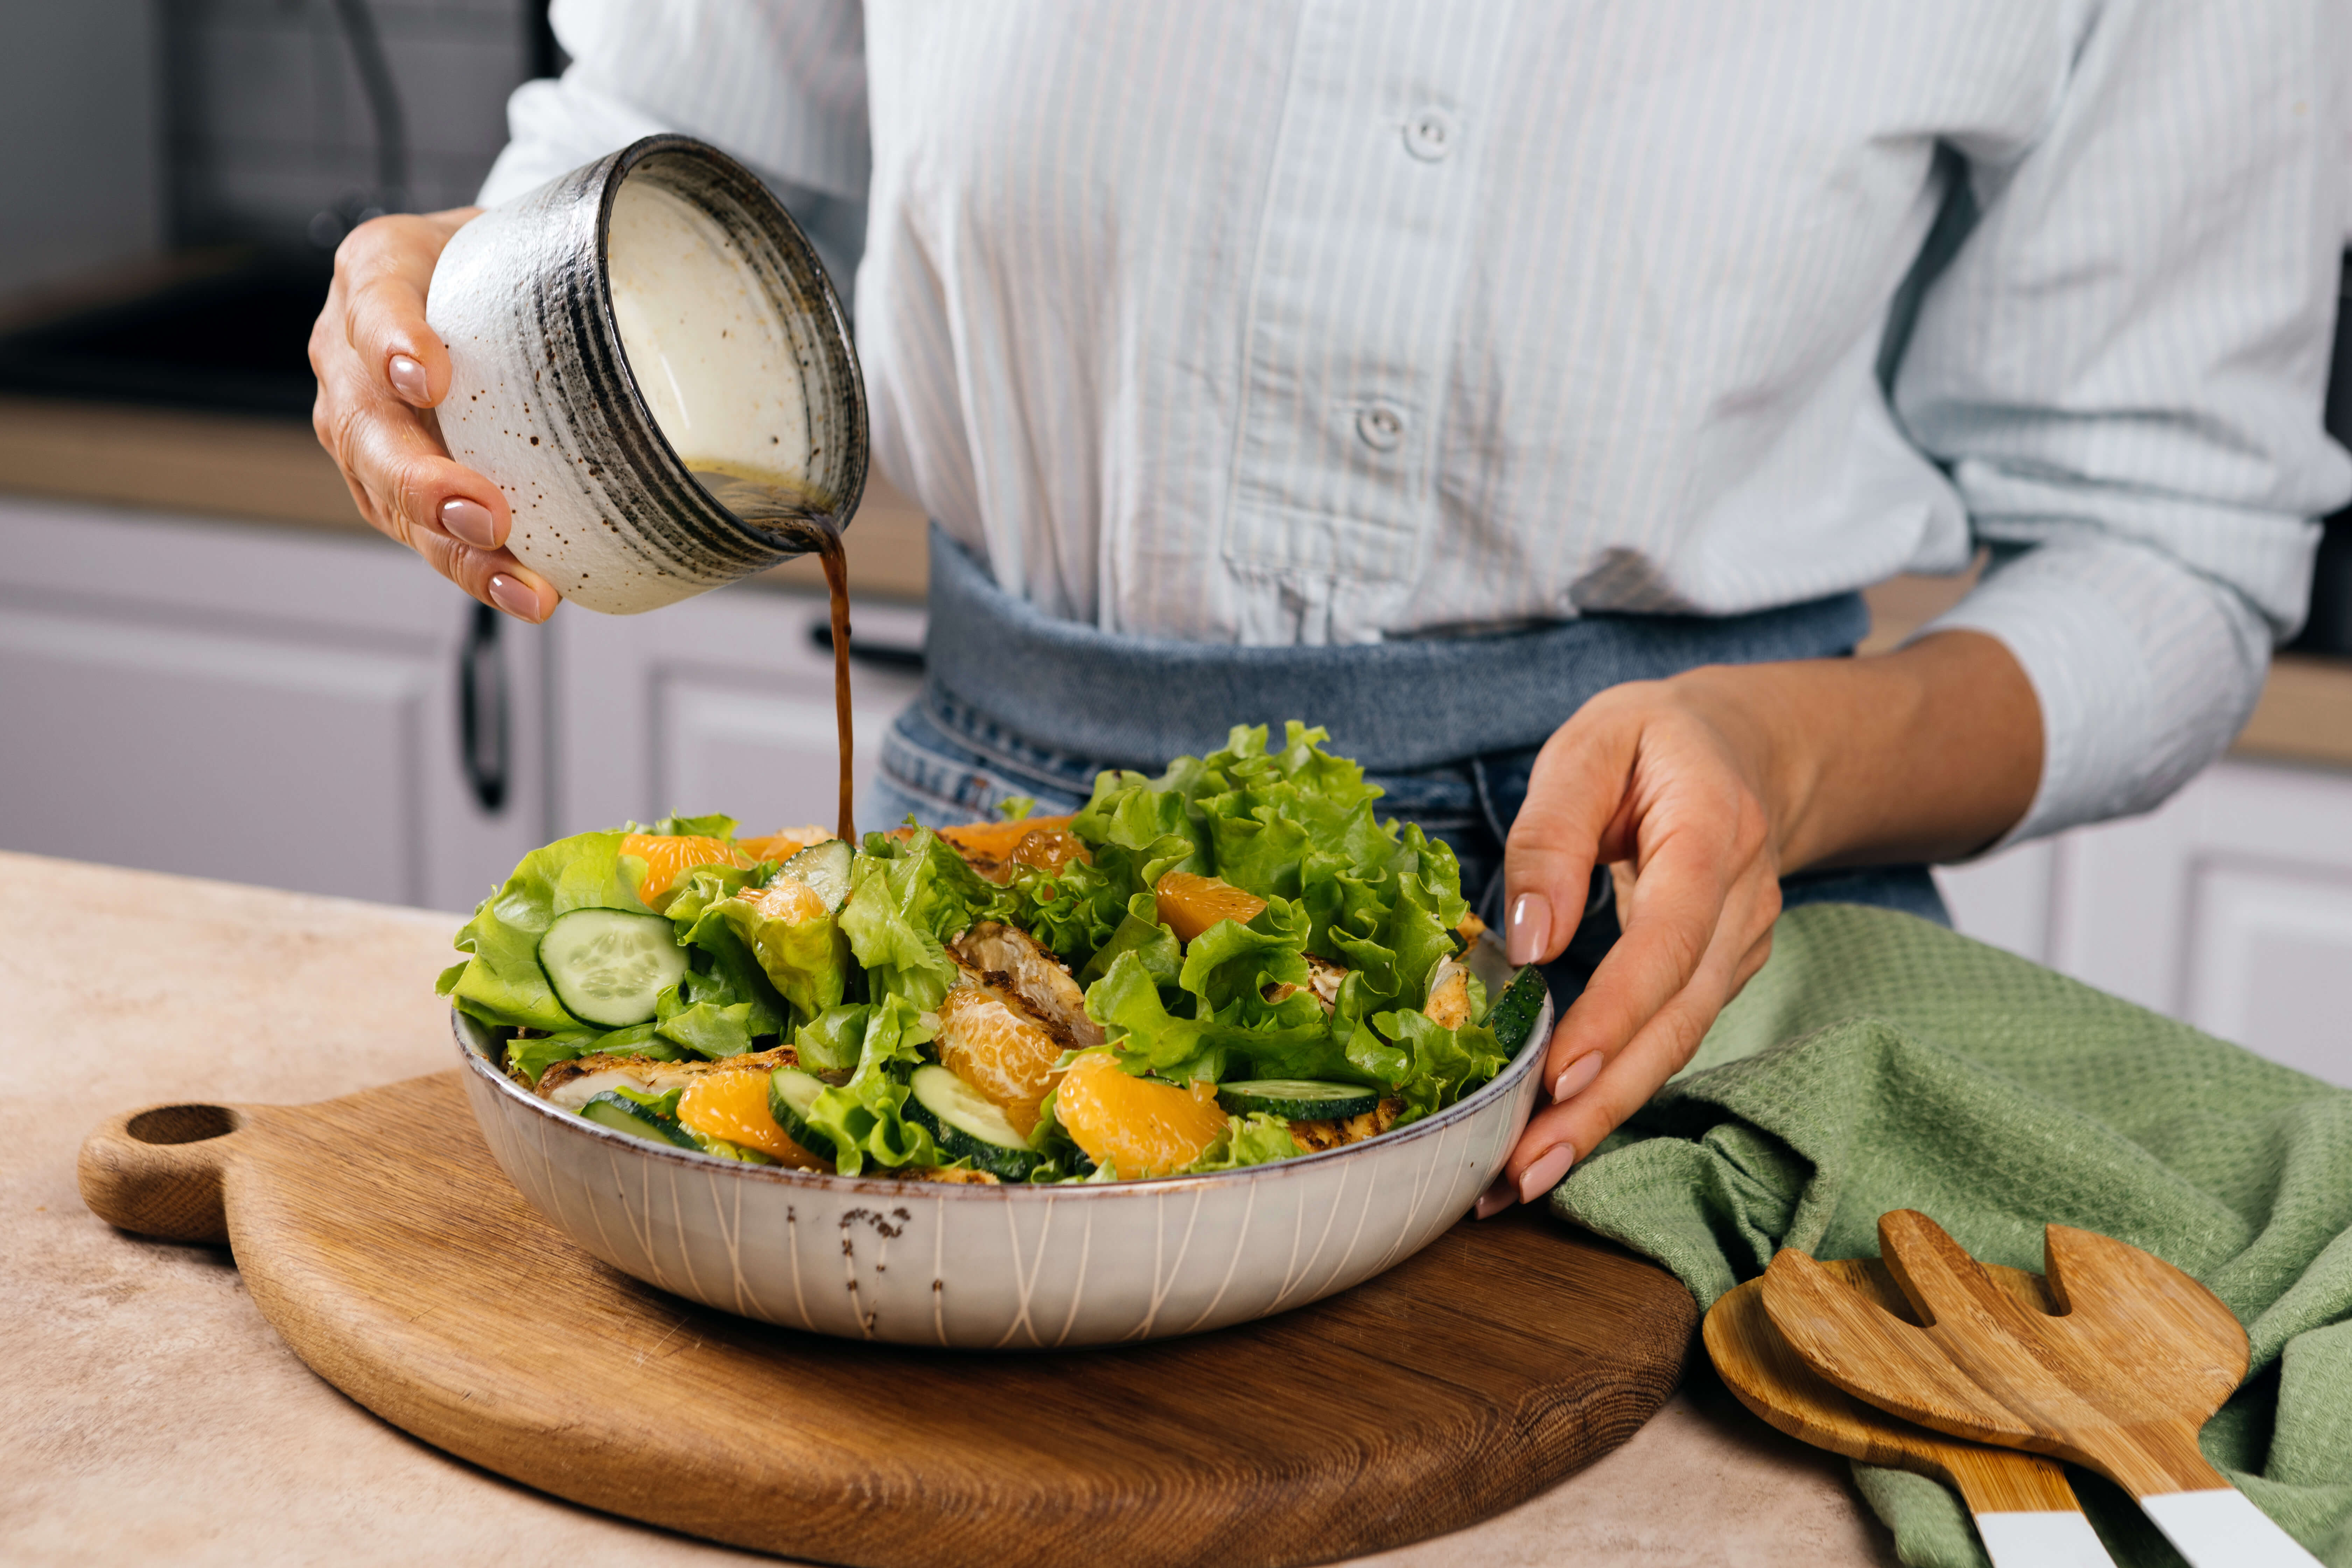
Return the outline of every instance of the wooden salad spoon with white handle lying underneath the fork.
<path id="1" fill-rule="evenodd" d="M 1818 1267 L 1839 1288 L 1886 1312 L 1910 1312 L 1875 1258 Z M 2030 1309 L 2049 1312 L 2039 1274 L 2002 1267 L 1990 1274 Z M 1955 1488 L 1976 1519 L 1992 1568 L 2112 1568 L 2114 1559 L 2082 1516 L 2082 1502 L 2056 1460 L 1915 1427 L 1825 1382 L 1771 1326 L 1762 1279 L 1717 1300 L 1703 1335 L 1724 1387 L 1780 1432 L 1863 1465 L 1910 1469 Z"/>

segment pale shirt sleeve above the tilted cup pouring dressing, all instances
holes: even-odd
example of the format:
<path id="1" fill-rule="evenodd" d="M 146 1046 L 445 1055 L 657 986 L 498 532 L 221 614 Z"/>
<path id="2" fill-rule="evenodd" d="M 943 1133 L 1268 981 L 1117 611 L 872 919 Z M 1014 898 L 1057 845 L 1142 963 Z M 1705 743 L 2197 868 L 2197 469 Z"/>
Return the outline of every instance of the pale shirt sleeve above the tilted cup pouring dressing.
<path id="1" fill-rule="evenodd" d="M 485 207 L 637 136 L 701 136 L 750 165 L 847 299 L 866 247 L 866 19 L 858 0 L 555 0 L 572 66 L 506 101 Z"/>

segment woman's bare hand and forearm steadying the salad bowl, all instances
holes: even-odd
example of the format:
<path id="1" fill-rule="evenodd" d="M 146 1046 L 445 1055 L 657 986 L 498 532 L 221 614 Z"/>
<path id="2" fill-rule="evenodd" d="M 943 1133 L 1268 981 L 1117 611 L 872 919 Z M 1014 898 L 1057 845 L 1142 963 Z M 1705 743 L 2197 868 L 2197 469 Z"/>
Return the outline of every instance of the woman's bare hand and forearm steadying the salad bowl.
<path id="1" fill-rule="evenodd" d="M 1771 954 L 1785 872 L 1964 856 L 2025 816 L 2039 778 L 2032 684 L 1980 632 L 1710 665 L 1585 703 L 1543 743 L 1512 823 L 1505 940 L 1512 964 L 1559 957 L 1595 865 L 1618 872 L 1623 936 L 1552 1032 L 1552 1103 L 1479 1213 L 1550 1192 L 1691 1060 Z"/>

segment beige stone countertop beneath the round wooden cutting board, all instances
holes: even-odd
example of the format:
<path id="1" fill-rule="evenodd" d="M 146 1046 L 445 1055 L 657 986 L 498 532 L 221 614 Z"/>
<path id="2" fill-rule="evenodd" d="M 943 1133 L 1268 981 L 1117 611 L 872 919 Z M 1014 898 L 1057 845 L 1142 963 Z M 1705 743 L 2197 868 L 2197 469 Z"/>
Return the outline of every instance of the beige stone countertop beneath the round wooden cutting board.
<path id="1" fill-rule="evenodd" d="M 0 1561 L 774 1561 L 409 1439 L 294 1359 L 226 1248 L 146 1241 L 82 1208 L 75 1150 L 122 1110 L 303 1103 L 445 1070 L 433 976 L 459 917 L 12 853 L 0 882 L 16 1107 L 0 1143 Z M 1618 1453 L 1367 1561 L 1837 1568 L 1893 1552 L 1842 1460 L 1757 1422 L 1700 1363 Z"/>

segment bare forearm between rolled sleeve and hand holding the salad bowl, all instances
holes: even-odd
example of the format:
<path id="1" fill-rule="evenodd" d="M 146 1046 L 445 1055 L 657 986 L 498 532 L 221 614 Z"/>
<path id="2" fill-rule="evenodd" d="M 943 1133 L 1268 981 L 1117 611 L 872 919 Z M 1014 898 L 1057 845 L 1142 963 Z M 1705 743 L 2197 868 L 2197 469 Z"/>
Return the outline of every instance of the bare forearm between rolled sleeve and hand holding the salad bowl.
<path id="1" fill-rule="evenodd" d="M 2025 816 L 2042 778 L 2034 689 L 1983 632 L 1675 682 L 1748 731 L 1783 872 L 1969 856 Z"/>

